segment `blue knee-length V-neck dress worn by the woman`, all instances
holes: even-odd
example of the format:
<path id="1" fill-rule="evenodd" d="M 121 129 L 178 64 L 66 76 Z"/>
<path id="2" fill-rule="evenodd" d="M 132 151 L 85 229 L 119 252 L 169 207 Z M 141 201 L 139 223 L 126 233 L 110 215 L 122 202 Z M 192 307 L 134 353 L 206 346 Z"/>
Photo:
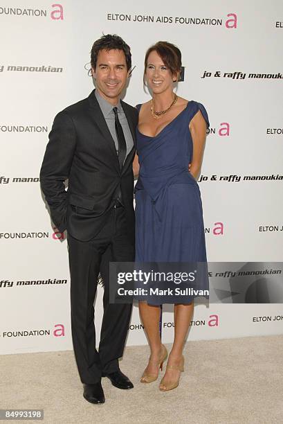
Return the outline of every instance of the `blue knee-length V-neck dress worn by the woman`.
<path id="1" fill-rule="evenodd" d="M 137 128 L 136 262 L 206 262 L 201 195 L 188 171 L 193 150 L 189 124 L 199 110 L 209 126 L 206 109 L 191 100 L 156 136 Z"/>

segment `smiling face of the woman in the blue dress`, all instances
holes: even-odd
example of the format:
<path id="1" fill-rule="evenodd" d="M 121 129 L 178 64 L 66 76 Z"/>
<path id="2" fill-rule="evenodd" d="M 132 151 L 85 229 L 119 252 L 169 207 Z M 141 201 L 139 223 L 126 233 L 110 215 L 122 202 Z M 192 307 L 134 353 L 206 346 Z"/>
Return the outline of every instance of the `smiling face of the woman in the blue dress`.
<path id="1" fill-rule="evenodd" d="M 173 90 L 172 73 L 163 63 L 163 60 L 156 51 L 149 53 L 147 58 L 145 79 L 148 87 L 152 89 L 154 94 L 161 94 L 164 91 Z"/>

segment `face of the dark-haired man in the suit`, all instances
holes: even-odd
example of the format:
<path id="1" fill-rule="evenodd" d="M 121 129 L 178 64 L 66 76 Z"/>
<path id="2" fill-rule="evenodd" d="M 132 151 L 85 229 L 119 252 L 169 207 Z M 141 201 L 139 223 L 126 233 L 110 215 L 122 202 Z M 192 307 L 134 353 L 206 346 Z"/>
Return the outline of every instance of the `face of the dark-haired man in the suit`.
<path id="1" fill-rule="evenodd" d="M 96 68 L 92 71 L 100 96 L 116 106 L 129 76 L 125 53 L 122 50 L 100 50 Z"/>

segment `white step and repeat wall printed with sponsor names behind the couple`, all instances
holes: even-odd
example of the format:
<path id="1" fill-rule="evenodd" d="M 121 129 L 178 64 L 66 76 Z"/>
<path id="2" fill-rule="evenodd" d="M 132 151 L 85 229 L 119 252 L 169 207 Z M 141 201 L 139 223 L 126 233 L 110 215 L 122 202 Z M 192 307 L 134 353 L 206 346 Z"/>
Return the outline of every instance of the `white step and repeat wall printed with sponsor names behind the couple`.
<path id="1" fill-rule="evenodd" d="M 147 48 L 167 40 L 181 49 L 176 92 L 203 103 L 210 117 L 199 186 L 208 260 L 222 263 L 223 288 L 235 262 L 237 270 L 257 263 L 262 273 L 253 286 L 264 279 L 268 287 L 269 276 L 281 274 L 282 1 L 1 2 L 2 354 L 72 348 L 66 234 L 49 218 L 39 169 L 55 114 L 93 89 L 89 57 L 102 33 L 131 46 L 134 70 L 124 99 L 131 105 L 150 98 L 143 86 Z M 236 294 L 240 280 L 232 285 Z M 99 287 L 98 330 L 102 294 Z M 197 304 L 189 339 L 282 333 L 282 297 L 234 303 L 221 296 L 223 302 Z M 164 342 L 172 342 L 170 306 L 163 308 L 162 329 Z M 145 343 L 134 306 L 127 344 Z"/>

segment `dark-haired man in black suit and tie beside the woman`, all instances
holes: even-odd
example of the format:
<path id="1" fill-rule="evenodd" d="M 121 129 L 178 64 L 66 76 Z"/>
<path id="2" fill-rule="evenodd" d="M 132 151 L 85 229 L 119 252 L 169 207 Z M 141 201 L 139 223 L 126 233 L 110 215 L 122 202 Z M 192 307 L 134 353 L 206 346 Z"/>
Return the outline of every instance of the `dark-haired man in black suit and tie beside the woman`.
<path id="1" fill-rule="evenodd" d="M 91 403 L 104 403 L 101 377 L 120 389 L 134 387 L 118 365 L 131 305 L 109 303 L 109 260 L 134 260 L 138 112 L 120 100 L 130 69 L 131 51 L 120 37 L 104 35 L 94 42 L 96 89 L 55 117 L 40 173 L 51 218 L 60 231 L 68 231 L 73 348 L 84 398 Z M 97 351 L 93 302 L 99 272 L 104 315 Z"/>

